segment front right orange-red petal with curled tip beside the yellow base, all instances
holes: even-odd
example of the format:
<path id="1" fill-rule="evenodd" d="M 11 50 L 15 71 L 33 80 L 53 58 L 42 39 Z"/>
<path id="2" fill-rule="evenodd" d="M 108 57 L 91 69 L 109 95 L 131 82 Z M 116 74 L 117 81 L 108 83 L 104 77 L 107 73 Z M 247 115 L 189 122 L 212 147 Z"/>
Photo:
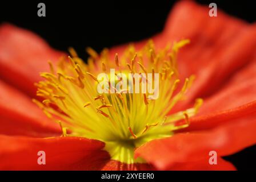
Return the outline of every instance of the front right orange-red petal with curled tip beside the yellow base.
<path id="1" fill-rule="evenodd" d="M 209 160 L 210 151 L 216 151 L 218 156 L 226 156 L 255 144 L 255 128 L 255 118 L 240 119 L 214 130 L 175 134 L 144 144 L 135 151 L 135 156 L 141 156 L 158 169 L 166 169 L 177 163 Z"/>

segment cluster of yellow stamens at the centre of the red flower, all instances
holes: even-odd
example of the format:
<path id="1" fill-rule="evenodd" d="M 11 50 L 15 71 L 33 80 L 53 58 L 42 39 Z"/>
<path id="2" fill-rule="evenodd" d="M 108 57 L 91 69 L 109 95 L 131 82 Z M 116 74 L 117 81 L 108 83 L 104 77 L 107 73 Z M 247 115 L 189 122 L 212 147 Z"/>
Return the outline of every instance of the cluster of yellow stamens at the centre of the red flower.
<path id="1" fill-rule="evenodd" d="M 143 159 L 133 157 L 136 147 L 153 139 L 171 137 L 175 130 L 187 127 L 189 117 L 202 105 L 202 99 L 198 99 L 194 107 L 169 114 L 173 106 L 185 98 L 194 80 L 191 76 L 181 84 L 178 78 L 178 49 L 187 43 L 189 40 L 181 40 L 172 47 L 158 50 L 150 40 L 141 50 L 135 52 L 135 48 L 129 46 L 122 56 L 116 53 L 113 59 L 110 59 L 107 49 L 98 54 L 87 48 L 90 55 L 87 64 L 73 48 L 69 48 L 71 57 L 62 59 L 57 68 L 49 62 L 50 73 L 41 73 L 45 81 L 35 85 L 37 95 L 44 100 L 33 101 L 59 123 L 63 137 L 98 139 L 106 143 L 105 150 L 112 159 L 128 164 L 142 163 Z M 99 93 L 97 88 L 101 80 L 97 76 L 99 73 L 110 75 L 110 69 L 115 68 L 114 81 L 105 83 L 109 86 L 107 92 Z M 111 86 L 123 81 L 118 73 L 126 76 L 138 73 L 141 77 L 139 80 L 133 77 L 133 84 L 127 83 L 127 89 L 118 89 Z M 147 77 L 148 73 L 153 74 L 153 80 Z M 158 97 L 152 96 L 148 89 L 142 92 L 142 84 L 157 81 L 155 73 L 159 73 Z M 136 80 L 140 92 L 128 92 L 130 89 L 134 91 Z M 71 131 L 69 134 L 67 129 Z"/>

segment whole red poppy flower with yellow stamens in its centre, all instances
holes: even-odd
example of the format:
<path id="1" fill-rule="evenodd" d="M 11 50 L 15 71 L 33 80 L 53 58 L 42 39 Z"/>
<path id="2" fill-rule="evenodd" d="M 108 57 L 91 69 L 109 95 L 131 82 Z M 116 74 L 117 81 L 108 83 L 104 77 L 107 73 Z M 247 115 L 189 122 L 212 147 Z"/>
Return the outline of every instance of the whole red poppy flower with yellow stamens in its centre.
<path id="1" fill-rule="evenodd" d="M 0 169 L 235 169 L 221 157 L 256 143 L 256 26 L 208 11 L 181 1 L 151 41 L 89 48 L 88 64 L 3 24 Z M 158 99 L 98 94 L 109 68 L 160 73 Z"/>

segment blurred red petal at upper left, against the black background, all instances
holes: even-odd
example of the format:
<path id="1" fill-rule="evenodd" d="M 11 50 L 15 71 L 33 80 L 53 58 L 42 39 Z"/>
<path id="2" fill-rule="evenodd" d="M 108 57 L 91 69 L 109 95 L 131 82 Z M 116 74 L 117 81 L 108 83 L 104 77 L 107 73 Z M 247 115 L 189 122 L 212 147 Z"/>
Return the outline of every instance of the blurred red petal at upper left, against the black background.
<path id="1" fill-rule="evenodd" d="M 49 71 L 47 61 L 63 55 L 30 31 L 3 24 L 0 26 L 0 77 L 22 91 L 35 95 L 34 82 L 39 72 Z"/>

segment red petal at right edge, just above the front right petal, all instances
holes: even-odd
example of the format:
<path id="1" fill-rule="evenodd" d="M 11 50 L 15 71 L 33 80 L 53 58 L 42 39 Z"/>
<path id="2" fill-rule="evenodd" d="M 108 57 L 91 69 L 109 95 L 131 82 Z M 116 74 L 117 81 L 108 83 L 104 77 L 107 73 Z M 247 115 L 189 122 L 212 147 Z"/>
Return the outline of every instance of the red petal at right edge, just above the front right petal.
<path id="1" fill-rule="evenodd" d="M 190 126 L 185 131 L 210 129 L 233 122 L 235 118 L 256 117 L 255 71 L 256 61 L 238 72 L 225 88 L 205 100 L 198 116 L 190 119 Z"/>

